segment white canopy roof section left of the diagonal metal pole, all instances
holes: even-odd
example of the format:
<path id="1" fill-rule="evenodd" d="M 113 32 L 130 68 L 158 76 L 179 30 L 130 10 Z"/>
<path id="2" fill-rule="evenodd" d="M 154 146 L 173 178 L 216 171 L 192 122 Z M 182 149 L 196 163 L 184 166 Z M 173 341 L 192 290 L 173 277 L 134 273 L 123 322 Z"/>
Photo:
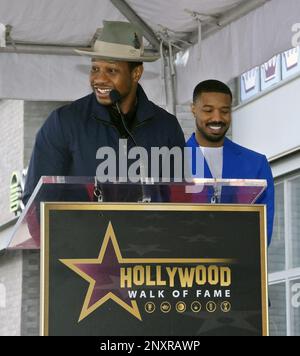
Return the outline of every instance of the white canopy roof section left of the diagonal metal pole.
<path id="1" fill-rule="evenodd" d="M 0 0 L 15 41 L 88 45 L 103 19 L 125 20 L 109 0 Z"/>

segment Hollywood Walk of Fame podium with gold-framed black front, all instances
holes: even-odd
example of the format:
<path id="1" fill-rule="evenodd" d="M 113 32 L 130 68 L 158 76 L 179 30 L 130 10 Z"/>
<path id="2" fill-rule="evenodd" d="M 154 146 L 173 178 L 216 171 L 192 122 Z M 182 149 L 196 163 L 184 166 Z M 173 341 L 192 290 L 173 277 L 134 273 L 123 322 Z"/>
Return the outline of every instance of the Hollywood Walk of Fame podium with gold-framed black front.
<path id="1" fill-rule="evenodd" d="M 265 189 L 42 177 L 8 245 L 41 249 L 41 335 L 268 335 Z"/>

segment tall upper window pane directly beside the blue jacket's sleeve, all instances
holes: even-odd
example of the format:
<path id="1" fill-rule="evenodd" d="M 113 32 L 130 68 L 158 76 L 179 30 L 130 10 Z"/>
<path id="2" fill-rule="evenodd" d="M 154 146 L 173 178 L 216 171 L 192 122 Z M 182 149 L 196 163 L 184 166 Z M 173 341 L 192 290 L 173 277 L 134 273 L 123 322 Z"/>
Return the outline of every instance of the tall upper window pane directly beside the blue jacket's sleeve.
<path id="1" fill-rule="evenodd" d="M 269 273 L 285 270 L 284 183 L 275 185 L 275 218 L 269 248 Z"/>

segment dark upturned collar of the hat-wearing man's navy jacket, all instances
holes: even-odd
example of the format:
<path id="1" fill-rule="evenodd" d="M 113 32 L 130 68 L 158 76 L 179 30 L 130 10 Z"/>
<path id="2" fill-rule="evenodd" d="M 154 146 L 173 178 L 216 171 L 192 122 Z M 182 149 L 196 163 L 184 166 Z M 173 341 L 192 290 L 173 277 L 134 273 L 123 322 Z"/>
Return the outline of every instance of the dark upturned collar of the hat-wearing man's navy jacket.
<path id="1" fill-rule="evenodd" d="M 91 114 L 93 117 L 96 117 L 98 120 L 107 122 L 112 125 L 109 112 L 104 105 L 98 103 L 94 93 L 92 95 L 92 106 Z M 155 107 L 151 101 L 147 98 L 143 88 L 138 84 L 137 88 L 137 99 L 138 107 L 136 112 L 137 125 L 151 119 L 155 115 Z"/>

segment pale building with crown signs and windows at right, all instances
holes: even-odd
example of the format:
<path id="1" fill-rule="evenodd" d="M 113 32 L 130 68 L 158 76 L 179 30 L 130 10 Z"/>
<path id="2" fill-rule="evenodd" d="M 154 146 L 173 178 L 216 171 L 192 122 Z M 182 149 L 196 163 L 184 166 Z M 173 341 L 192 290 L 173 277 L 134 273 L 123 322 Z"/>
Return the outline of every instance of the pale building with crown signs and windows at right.
<path id="1" fill-rule="evenodd" d="M 270 333 L 300 335 L 300 48 L 244 73 L 239 89 L 233 139 L 264 153 L 275 179 Z"/>

